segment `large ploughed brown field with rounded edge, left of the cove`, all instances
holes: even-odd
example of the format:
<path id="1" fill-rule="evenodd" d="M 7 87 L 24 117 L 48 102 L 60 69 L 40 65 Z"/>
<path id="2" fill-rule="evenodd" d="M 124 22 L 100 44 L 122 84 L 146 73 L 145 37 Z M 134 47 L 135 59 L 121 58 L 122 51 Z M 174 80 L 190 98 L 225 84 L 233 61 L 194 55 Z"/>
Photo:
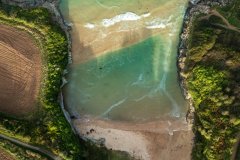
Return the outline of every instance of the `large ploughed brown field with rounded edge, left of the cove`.
<path id="1" fill-rule="evenodd" d="M 32 37 L 0 24 L 0 112 L 14 116 L 33 113 L 40 80 L 40 50 Z"/>

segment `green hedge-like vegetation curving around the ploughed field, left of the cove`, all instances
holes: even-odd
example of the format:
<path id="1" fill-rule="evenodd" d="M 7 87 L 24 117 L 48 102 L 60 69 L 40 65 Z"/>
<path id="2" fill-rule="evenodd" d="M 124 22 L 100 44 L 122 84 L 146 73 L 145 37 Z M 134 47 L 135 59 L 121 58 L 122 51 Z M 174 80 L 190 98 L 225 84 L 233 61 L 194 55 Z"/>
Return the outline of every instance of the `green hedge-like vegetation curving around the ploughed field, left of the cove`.
<path id="1" fill-rule="evenodd" d="M 73 134 L 58 104 L 61 77 L 67 65 L 68 42 L 47 9 L 22 9 L 2 4 L 0 23 L 25 30 L 41 49 L 43 79 L 38 99 L 39 111 L 31 118 L 0 115 L 0 133 L 40 146 L 63 159 L 113 159 L 114 152 L 101 150 Z M 81 144 L 81 145 L 80 145 Z M 129 159 L 119 155 L 118 159 Z"/>

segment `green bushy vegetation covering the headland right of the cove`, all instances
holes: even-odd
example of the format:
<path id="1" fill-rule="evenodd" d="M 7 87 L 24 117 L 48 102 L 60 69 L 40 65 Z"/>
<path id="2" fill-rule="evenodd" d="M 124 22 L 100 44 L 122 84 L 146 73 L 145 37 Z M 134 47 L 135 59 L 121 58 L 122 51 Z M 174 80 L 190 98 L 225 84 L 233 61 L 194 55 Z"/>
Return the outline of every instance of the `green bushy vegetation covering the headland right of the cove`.
<path id="1" fill-rule="evenodd" d="M 239 26 L 239 1 L 213 9 Z M 218 16 L 205 16 L 194 17 L 185 71 L 196 111 L 192 157 L 230 159 L 240 132 L 240 32 L 229 29 Z"/>

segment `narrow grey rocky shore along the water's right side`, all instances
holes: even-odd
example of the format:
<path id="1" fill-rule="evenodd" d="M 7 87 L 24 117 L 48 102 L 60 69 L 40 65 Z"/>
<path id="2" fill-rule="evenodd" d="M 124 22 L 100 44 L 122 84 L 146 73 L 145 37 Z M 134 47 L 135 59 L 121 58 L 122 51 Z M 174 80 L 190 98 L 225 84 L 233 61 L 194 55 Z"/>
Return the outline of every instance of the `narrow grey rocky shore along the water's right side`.
<path id="1" fill-rule="evenodd" d="M 182 89 L 185 99 L 189 102 L 189 109 L 186 115 L 186 120 L 190 125 L 192 125 L 194 121 L 194 103 L 186 85 L 187 75 L 185 74 L 185 71 L 187 70 L 187 68 L 185 62 L 187 58 L 188 39 L 191 34 L 190 29 L 193 25 L 193 18 L 200 13 L 209 13 L 210 7 L 213 5 L 225 6 L 229 2 L 231 2 L 231 0 L 190 0 L 188 8 L 185 12 L 182 32 L 180 34 L 177 67 L 180 87 Z"/>

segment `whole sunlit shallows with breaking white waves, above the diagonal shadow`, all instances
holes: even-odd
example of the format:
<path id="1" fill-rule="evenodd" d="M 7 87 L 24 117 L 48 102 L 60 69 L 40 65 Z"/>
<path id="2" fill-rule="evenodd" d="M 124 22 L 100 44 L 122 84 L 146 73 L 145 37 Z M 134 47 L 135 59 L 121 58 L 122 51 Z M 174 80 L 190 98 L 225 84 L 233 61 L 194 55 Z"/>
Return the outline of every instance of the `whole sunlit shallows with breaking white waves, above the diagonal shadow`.
<path id="1" fill-rule="evenodd" d="M 112 5 L 109 8 L 97 1 L 63 1 L 63 15 L 72 24 L 73 63 L 86 62 L 156 34 L 174 34 L 175 27 L 181 22 L 181 8 L 185 0 L 151 1 L 121 1 L 113 4 L 104 1 Z"/>

